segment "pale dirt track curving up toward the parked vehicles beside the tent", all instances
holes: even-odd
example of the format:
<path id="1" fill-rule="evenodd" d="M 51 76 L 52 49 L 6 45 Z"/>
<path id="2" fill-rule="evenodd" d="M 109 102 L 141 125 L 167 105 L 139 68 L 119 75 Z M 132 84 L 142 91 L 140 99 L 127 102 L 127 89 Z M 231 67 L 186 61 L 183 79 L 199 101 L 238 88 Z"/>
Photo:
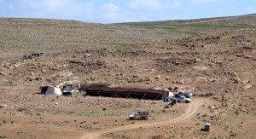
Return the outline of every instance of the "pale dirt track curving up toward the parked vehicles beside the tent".
<path id="1" fill-rule="evenodd" d="M 102 134 L 106 134 L 106 133 L 113 132 L 113 131 L 131 130 L 131 129 L 136 129 L 136 128 L 140 128 L 140 127 L 147 128 L 147 127 L 151 127 L 151 126 L 160 126 L 160 125 L 167 125 L 170 123 L 176 123 L 176 122 L 182 121 L 184 119 L 189 119 L 190 117 L 192 117 L 198 111 L 198 108 L 201 106 L 202 103 L 203 103 L 203 100 L 201 100 L 201 99 L 195 99 L 195 100 L 191 101 L 191 103 L 188 104 L 189 107 L 187 108 L 186 112 L 183 113 L 183 115 L 181 115 L 180 117 L 177 117 L 176 119 L 170 119 L 168 122 L 161 121 L 161 122 L 154 122 L 154 123 L 148 123 L 148 124 L 127 125 L 127 126 L 117 127 L 117 128 L 108 129 L 108 130 L 100 130 L 100 131 L 96 131 L 94 133 L 86 134 L 85 136 L 82 137 L 82 139 L 101 138 L 100 136 L 102 136 Z"/>

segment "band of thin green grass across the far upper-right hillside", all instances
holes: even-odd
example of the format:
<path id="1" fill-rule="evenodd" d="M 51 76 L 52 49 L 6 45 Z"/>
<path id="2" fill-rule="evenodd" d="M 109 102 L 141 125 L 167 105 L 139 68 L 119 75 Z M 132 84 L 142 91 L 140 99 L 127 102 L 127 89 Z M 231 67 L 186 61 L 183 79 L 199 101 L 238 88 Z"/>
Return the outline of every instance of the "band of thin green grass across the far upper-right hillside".
<path id="1" fill-rule="evenodd" d="M 204 20 L 201 23 L 201 20 Z M 222 20 L 212 22 L 212 19 L 201 19 L 201 20 L 166 20 L 166 21 L 154 21 L 154 22 L 134 22 L 134 23 L 122 23 L 120 25 L 134 26 L 138 28 L 148 30 L 166 30 L 168 32 L 183 33 L 189 35 L 195 35 L 203 33 L 203 30 L 214 30 L 218 28 L 247 28 L 255 27 L 254 24 L 236 23 L 236 22 L 225 22 Z M 180 31 L 181 29 L 187 30 L 186 32 Z M 196 29 L 196 31 L 195 31 Z"/>

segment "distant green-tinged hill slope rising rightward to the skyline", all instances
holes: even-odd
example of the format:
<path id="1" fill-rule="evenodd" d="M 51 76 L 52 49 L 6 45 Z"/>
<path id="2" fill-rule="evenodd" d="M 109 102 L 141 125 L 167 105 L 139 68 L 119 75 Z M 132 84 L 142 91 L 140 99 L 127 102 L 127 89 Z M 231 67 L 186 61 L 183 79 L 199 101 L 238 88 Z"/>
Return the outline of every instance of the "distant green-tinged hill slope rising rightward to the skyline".
<path id="1" fill-rule="evenodd" d="M 256 14 L 232 17 L 207 18 L 200 20 L 165 20 L 153 22 L 123 23 L 121 25 L 136 26 L 137 28 L 164 29 L 169 32 L 185 34 L 210 34 L 236 30 L 239 28 L 256 27 Z"/>

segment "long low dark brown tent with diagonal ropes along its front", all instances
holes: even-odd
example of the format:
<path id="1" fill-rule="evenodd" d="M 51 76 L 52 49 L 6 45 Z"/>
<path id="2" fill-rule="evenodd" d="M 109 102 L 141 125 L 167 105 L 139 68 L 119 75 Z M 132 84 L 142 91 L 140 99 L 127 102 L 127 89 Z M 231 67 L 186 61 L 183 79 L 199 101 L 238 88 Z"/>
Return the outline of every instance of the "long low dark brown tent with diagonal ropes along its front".
<path id="1" fill-rule="evenodd" d="M 168 96 L 168 92 L 166 90 L 90 87 L 86 90 L 86 96 L 105 96 L 105 97 L 161 100 Z"/>

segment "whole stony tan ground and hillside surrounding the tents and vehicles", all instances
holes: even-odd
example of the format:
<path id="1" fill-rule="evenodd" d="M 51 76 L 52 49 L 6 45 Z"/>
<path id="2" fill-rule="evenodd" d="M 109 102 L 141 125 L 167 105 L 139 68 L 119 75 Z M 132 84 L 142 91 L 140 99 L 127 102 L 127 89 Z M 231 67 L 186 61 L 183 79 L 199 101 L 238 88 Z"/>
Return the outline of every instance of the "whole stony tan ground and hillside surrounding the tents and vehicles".
<path id="1" fill-rule="evenodd" d="M 114 25 L 0 19 L 0 138 L 255 138 L 256 15 Z M 190 104 L 44 84 L 195 86 Z M 129 121 L 148 110 L 148 121 Z M 201 130 L 206 122 L 212 130 Z"/>

